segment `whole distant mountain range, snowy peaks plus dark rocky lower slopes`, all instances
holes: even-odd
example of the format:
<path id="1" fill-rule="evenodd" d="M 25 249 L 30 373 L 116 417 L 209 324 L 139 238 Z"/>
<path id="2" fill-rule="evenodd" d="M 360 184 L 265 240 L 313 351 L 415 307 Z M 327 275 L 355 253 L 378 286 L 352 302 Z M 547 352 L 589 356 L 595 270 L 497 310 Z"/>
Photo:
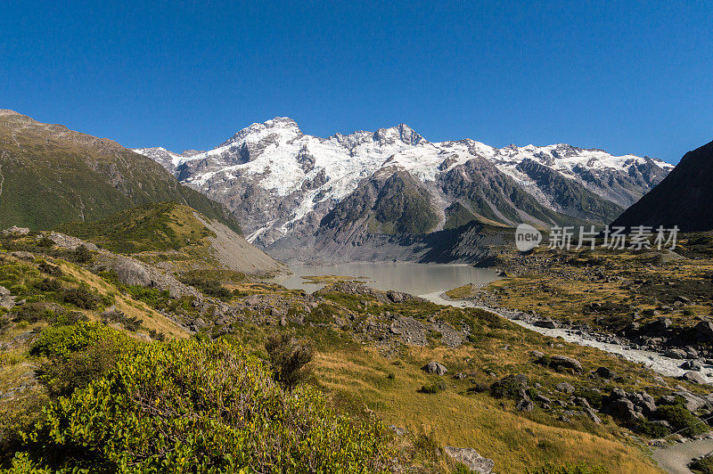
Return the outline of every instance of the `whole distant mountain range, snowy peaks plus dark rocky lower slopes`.
<path id="1" fill-rule="evenodd" d="M 322 257 L 348 259 L 349 247 L 376 235 L 471 222 L 608 223 L 674 168 L 568 144 L 431 143 L 403 124 L 321 138 L 286 118 L 252 124 L 210 151 L 135 151 L 225 203 L 249 241 L 284 256 L 332 249 Z"/>

